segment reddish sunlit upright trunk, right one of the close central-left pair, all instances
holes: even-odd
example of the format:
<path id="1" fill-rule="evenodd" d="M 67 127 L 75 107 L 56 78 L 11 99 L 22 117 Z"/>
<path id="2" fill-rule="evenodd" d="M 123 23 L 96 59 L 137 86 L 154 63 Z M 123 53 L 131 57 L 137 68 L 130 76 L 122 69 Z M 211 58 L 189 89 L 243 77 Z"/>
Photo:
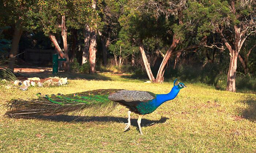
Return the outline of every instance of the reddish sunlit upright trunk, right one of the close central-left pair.
<path id="1" fill-rule="evenodd" d="M 91 32 L 91 41 L 90 41 L 90 47 L 89 47 L 89 62 L 90 62 L 90 73 L 94 74 L 95 72 L 95 62 L 96 62 L 96 32 Z"/>

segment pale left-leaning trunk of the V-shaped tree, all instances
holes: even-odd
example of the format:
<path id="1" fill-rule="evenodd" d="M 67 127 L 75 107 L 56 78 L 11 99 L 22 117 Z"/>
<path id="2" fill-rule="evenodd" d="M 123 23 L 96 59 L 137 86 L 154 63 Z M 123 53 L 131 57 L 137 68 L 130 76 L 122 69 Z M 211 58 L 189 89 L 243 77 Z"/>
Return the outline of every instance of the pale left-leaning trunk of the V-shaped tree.
<path id="1" fill-rule="evenodd" d="M 138 43 L 139 43 L 140 53 L 142 54 L 142 59 L 143 59 L 143 62 L 144 62 L 144 65 L 145 65 L 145 68 L 146 68 L 146 71 L 147 71 L 148 78 L 151 82 L 154 82 L 155 77 L 153 76 L 153 73 L 151 71 L 150 64 L 147 60 L 147 56 L 146 56 L 145 51 L 144 51 L 143 42 L 140 38 L 138 40 Z"/>

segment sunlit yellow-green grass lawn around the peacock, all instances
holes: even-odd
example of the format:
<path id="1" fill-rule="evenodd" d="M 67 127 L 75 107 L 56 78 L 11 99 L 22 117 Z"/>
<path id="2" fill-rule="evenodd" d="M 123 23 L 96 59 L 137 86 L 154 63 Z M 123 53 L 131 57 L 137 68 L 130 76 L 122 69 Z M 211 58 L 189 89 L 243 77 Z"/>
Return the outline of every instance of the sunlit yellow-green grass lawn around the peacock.
<path id="1" fill-rule="evenodd" d="M 105 80 L 69 80 L 63 87 L 7 89 L 0 84 L 0 152 L 256 152 L 256 95 L 218 91 L 204 84 L 184 83 L 178 96 L 142 118 L 118 105 L 112 112 L 73 112 L 35 118 L 9 118 L 3 106 L 12 98 L 36 93 L 67 94 L 93 89 L 131 89 L 168 93 L 173 82 L 147 84 L 122 76 L 98 74 Z M 89 118 L 91 117 L 91 118 Z"/>

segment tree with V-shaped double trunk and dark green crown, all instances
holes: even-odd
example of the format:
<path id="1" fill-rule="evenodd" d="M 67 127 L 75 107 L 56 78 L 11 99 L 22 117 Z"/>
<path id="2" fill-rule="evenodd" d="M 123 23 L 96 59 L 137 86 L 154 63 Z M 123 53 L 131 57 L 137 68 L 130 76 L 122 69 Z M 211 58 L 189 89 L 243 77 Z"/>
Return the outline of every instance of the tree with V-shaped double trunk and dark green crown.
<path id="1" fill-rule="evenodd" d="M 131 32 L 129 35 L 138 43 L 148 77 L 155 83 L 163 82 L 167 61 L 174 53 L 198 48 L 206 40 L 205 37 L 199 37 L 196 45 L 184 46 L 185 43 L 182 44 L 187 39 L 186 34 L 193 35 L 193 31 L 197 31 L 198 28 L 195 26 L 196 22 L 191 23 L 188 16 L 184 15 L 183 12 L 187 9 L 187 2 L 184 0 L 136 1 L 135 4 L 132 1 L 129 6 L 131 6 L 128 8 L 129 14 L 123 20 L 129 24 L 129 31 Z M 130 20 L 130 22 L 127 22 L 127 20 Z M 151 72 L 143 47 L 143 40 L 147 38 L 162 39 L 162 46 L 167 47 L 156 79 Z M 182 46 L 183 49 L 177 49 L 178 45 Z"/>

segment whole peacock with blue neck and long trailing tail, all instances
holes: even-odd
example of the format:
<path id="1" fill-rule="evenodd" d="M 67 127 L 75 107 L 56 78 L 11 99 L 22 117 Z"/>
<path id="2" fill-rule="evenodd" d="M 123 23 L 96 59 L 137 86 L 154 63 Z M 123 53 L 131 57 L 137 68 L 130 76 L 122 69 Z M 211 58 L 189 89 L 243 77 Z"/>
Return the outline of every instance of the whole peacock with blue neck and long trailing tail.
<path id="1" fill-rule="evenodd" d="M 7 103 L 9 111 L 5 114 L 11 117 L 25 114 L 52 115 L 82 111 L 85 108 L 111 111 L 119 103 L 129 109 L 128 123 L 125 123 L 127 126 L 124 131 L 131 126 L 130 114 L 134 112 L 139 114 L 137 122 L 140 134 L 143 135 L 140 126 L 142 117 L 155 111 L 164 102 L 174 99 L 182 88 L 187 87 L 176 79 L 174 87 L 167 94 L 124 89 L 97 89 L 67 95 L 58 93 L 57 95 L 42 96 L 41 93 L 38 93 L 37 99 L 10 100 Z"/>

